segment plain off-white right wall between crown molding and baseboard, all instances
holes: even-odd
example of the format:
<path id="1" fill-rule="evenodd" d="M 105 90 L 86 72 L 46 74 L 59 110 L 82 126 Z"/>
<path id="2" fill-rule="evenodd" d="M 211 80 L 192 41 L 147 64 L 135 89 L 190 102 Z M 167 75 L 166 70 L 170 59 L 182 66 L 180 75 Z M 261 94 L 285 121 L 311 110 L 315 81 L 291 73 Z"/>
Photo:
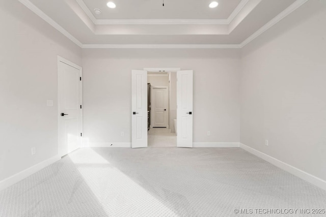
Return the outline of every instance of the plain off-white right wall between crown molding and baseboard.
<path id="1" fill-rule="evenodd" d="M 307 2 L 242 52 L 240 142 L 326 180 L 326 2 Z"/>

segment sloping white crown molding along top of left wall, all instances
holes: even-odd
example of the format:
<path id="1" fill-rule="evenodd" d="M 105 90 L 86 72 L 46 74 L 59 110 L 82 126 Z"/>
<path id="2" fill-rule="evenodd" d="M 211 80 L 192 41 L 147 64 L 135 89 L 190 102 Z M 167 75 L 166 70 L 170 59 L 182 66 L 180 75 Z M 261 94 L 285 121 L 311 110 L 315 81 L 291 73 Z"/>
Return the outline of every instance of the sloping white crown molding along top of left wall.
<path id="1" fill-rule="evenodd" d="M 26 6 L 28 9 L 33 11 L 36 15 L 41 17 L 43 20 L 45 20 L 48 24 L 56 28 L 60 33 L 62 33 L 64 36 L 66 36 L 68 39 L 70 39 L 72 42 L 74 42 L 79 47 L 83 47 L 83 44 L 78 41 L 75 37 L 73 37 L 70 33 L 67 32 L 66 29 L 64 29 L 61 25 L 59 25 L 56 21 L 52 20 L 49 16 L 47 16 L 43 11 L 41 11 L 38 7 L 33 5 L 28 0 L 18 0 L 21 4 Z"/>

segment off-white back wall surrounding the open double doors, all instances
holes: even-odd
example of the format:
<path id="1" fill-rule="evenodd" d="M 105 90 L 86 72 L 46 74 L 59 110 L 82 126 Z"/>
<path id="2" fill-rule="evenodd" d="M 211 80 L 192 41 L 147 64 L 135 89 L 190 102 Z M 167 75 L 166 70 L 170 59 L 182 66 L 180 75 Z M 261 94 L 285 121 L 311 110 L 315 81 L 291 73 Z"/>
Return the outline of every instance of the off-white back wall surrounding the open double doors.
<path id="1" fill-rule="evenodd" d="M 239 142 L 239 50 L 84 49 L 84 134 L 91 145 L 131 142 L 131 70 L 145 67 L 194 70 L 194 142 Z"/>

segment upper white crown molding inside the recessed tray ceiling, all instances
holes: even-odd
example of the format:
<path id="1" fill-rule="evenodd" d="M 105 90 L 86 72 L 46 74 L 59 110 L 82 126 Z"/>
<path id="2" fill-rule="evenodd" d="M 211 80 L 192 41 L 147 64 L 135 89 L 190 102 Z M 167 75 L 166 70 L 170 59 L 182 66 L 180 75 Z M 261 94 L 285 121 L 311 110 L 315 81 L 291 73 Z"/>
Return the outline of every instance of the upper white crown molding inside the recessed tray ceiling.
<path id="1" fill-rule="evenodd" d="M 83 0 L 76 0 L 95 25 L 229 25 L 249 0 L 241 0 L 227 19 L 96 19 Z"/>

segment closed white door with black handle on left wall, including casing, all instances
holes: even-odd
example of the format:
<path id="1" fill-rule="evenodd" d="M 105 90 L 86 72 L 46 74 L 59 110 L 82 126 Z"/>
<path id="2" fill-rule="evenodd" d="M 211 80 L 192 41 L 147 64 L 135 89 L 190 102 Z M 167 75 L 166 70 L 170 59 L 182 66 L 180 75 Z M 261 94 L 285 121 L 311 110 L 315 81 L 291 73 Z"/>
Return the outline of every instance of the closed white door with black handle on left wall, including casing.
<path id="1" fill-rule="evenodd" d="M 81 146 L 82 94 L 82 67 L 58 57 L 58 149 L 61 157 Z"/>

